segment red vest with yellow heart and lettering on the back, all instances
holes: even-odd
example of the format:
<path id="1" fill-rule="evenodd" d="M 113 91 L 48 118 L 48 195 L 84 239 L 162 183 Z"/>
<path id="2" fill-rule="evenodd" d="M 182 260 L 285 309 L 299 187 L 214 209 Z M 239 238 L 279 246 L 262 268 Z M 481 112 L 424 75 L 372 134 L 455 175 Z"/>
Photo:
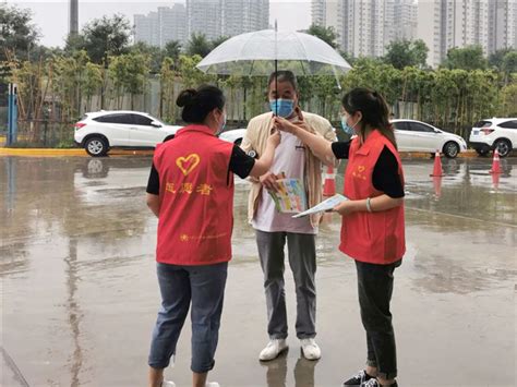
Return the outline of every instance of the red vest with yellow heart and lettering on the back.
<path id="1" fill-rule="evenodd" d="M 231 259 L 233 144 L 204 125 L 189 125 L 157 146 L 160 210 L 156 261 L 211 265 Z"/>

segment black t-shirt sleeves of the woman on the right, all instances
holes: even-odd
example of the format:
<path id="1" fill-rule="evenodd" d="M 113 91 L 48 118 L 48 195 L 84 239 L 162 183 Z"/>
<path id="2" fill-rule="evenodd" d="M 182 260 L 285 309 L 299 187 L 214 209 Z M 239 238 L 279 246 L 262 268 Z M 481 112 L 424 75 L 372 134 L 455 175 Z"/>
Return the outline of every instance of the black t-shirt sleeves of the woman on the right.
<path id="1" fill-rule="evenodd" d="M 332 150 L 336 158 L 348 158 L 350 142 L 333 143 Z M 372 183 L 375 190 L 384 192 L 389 197 L 404 197 L 404 185 L 398 174 L 397 158 L 387 146 L 384 146 L 375 162 L 372 173 Z"/>

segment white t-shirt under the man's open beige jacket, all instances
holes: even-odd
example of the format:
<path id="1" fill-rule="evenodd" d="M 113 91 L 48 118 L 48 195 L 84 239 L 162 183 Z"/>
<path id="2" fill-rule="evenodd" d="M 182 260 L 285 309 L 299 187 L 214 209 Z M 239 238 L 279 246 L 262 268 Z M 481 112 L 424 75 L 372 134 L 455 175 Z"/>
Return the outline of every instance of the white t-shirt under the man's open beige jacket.
<path id="1" fill-rule="evenodd" d="M 269 170 L 275 174 L 284 172 L 287 179 L 300 179 L 305 190 L 304 169 L 305 146 L 296 135 L 282 132 Z M 317 228 L 312 227 L 310 217 L 293 219 L 292 214 L 278 213 L 266 189 L 262 190 L 252 226 L 255 230 L 265 232 L 317 233 Z"/>

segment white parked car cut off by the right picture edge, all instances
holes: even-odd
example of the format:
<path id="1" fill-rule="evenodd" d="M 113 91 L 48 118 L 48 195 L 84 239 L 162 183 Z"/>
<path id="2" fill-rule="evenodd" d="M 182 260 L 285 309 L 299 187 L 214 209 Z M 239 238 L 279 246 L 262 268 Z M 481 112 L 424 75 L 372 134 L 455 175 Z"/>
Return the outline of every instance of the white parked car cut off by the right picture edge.
<path id="1" fill-rule="evenodd" d="M 476 123 L 470 132 L 470 146 L 485 156 L 497 149 L 501 157 L 517 146 L 517 118 L 492 118 Z"/>

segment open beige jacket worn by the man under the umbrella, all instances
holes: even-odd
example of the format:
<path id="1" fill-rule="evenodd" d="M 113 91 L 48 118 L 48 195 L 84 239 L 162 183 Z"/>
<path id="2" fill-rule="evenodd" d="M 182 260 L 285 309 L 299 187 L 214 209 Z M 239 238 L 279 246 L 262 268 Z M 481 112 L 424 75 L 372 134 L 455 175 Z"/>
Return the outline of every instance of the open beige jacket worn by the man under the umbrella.
<path id="1" fill-rule="evenodd" d="M 322 135 L 328 141 L 336 141 L 336 133 L 328 120 L 317 114 L 302 112 L 311 132 Z M 264 153 L 273 125 L 273 113 L 264 113 L 253 118 L 248 124 L 247 134 L 242 141 L 241 148 L 244 152 L 255 150 L 258 157 Z M 305 188 L 308 190 L 309 207 L 313 207 L 322 201 L 322 161 L 312 154 L 311 149 L 305 148 Z M 250 197 L 248 201 L 248 220 L 251 222 L 258 208 L 258 199 L 262 194 L 262 184 L 256 179 L 250 179 L 252 182 Z M 311 225 L 320 225 L 321 214 L 311 216 Z"/>

